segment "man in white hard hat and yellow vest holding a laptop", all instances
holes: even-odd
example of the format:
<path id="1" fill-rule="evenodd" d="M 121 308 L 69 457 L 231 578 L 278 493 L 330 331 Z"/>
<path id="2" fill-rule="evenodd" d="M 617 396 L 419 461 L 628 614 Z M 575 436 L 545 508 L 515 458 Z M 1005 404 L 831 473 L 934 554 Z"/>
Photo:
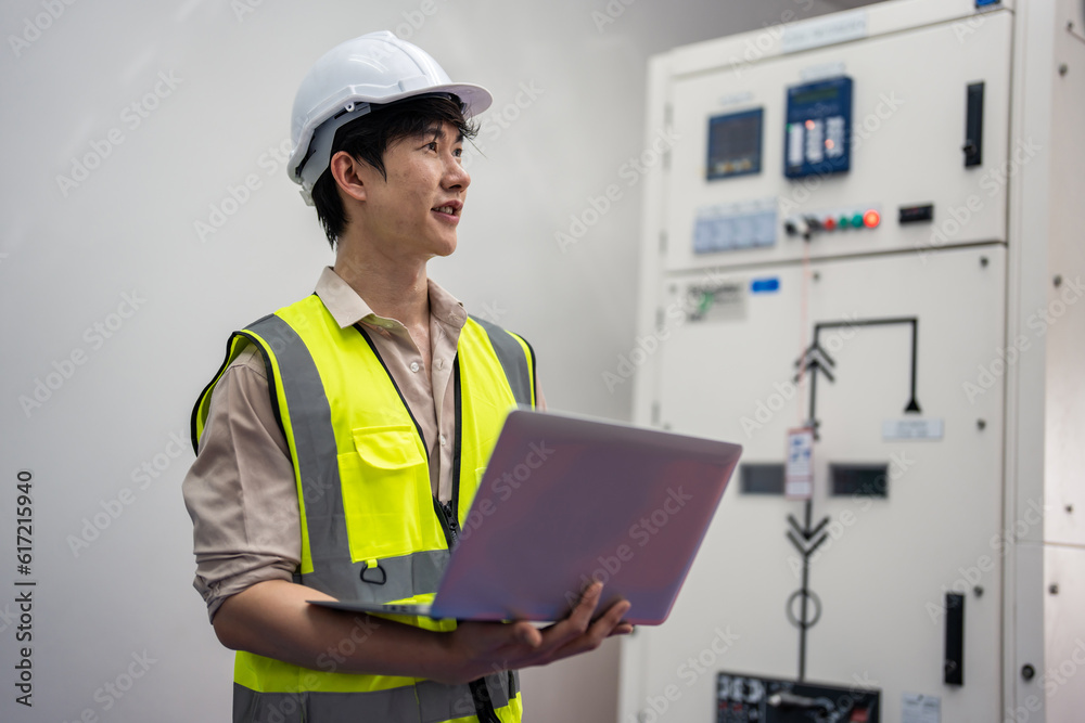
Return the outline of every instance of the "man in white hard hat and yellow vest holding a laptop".
<path id="1" fill-rule="evenodd" d="M 456 249 L 469 118 L 490 104 L 390 33 L 303 80 L 290 172 L 336 251 L 316 294 L 235 333 L 193 412 L 195 586 L 238 650 L 234 721 L 519 721 L 518 669 L 593 649 L 628 603 L 462 623 L 306 603 L 425 602 L 531 347 L 426 276 Z"/>

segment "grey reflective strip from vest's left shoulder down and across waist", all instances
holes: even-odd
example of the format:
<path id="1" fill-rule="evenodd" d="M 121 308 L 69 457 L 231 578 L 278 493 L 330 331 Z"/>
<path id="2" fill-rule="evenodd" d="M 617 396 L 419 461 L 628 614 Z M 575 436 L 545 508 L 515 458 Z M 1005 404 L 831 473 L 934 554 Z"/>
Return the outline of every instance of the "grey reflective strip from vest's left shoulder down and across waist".
<path id="1" fill-rule="evenodd" d="M 293 430 L 312 572 L 301 576 L 298 581 L 341 599 L 376 604 L 436 592 L 448 563 L 447 550 L 382 559 L 384 574 L 379 579 L 385 583 L 362 581 L 366 563 L 350 561 L 331 409 L 312 356 L 279 317 L 261 319 L 248 330 L 275 351 L 281 377 L 277 383 L 282 385 L 291 418 L 306 422 L 295 424 Z M 367 578 L 372 576 L 371 571 Z"/>

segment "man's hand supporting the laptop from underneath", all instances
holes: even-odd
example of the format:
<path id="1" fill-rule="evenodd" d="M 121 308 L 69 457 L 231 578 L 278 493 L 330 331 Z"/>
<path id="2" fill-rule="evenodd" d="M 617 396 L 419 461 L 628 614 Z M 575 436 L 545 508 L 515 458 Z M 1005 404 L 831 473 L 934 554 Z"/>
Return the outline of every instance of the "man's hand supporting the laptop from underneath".
<path id="1" fill-rule="evenodd" d="M 449 670 L 435 680 L 469 683 L 502 670 L 546 666 L 599 647 L 611 635 L 626 635 L 633 625 L 622 622 L 627 601 L 611 605 L 592 621 L 603 585 L 585 589 L 580 602 L 563 620 L 539 629 L 529 622 L 461 622 L 447 633 Z"/>

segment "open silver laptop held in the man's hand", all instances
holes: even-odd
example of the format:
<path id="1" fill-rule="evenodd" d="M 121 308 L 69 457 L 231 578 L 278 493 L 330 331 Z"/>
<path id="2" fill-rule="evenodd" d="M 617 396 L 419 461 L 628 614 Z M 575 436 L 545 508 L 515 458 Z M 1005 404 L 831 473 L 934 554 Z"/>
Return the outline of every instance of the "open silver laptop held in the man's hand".
<path id="1" fill-rule="evenodd" d="M 509 414 L 430 605 L 310 601 L 459 620 L 564 618 L 592 579 L 601 611 L 666 620 L 742 448 L 552 412 Z"/>

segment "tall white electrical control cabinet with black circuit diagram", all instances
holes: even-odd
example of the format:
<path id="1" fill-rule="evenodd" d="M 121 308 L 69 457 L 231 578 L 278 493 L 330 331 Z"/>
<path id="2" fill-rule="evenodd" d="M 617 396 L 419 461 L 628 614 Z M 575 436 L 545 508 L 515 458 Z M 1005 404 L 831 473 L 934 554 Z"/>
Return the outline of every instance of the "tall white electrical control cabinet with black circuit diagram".
<path id="1" fill-rule="evenodd" d="M 1006 380 L 1046 333 L 1007 332 L 1039 149 L 1017 10 L 891 1 L 653 60 L 678 140 L 644 183 L 635 421 L 744 452 L 667 625 L 623 643 L 622 720 L 1001 714 L 1009 551 L 1043 527 L 1005 487 Z"/>

